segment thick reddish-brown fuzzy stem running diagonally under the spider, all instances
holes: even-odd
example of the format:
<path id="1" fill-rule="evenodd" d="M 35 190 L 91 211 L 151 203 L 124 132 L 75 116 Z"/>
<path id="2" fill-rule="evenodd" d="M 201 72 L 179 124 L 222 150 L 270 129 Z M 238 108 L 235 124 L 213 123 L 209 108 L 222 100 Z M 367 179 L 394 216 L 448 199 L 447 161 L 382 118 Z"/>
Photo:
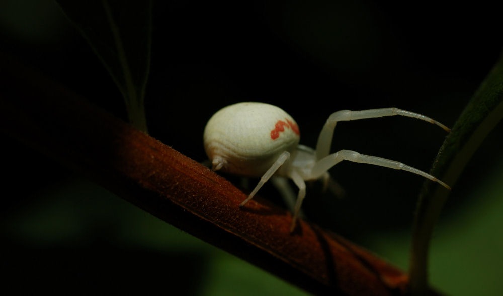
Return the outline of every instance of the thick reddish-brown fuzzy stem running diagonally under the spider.
<path id="1" fill-rule="evenodd" d="M 0 56 L 2 129 L 166 222 L 316 294 L 400 295 L 407 276 L 299 220 L 57 83 Z M 172 268 L 176 268 L 173 266 Z"/>

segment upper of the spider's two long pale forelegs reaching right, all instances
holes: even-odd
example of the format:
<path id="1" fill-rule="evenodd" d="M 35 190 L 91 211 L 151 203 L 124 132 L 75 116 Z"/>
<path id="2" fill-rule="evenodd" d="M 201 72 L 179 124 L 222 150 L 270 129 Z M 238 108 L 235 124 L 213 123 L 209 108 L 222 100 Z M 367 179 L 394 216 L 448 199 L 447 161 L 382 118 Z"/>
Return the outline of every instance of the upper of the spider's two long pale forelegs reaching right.
<path id="1" fill-rule="evenodd" d="M 330 147 L 332 145 L 332 137 L 333 137 L 333 129 L 336 127 L 338 121 L 349 121 L 349 120 L 358 120 L 358 119 L 366 119 L 366 118 L 377 118 L 383 116 L 393 116 L 393 115 L 401 115 L 412 117 L 416 119 L 421 119 L 424 121 L 428 121 L 430 123 L 436 124 L 439 127 L 443 128 L 447 132 L 450 131 L 448 127 L 441 124 L 440 122 L 433 120 L 427 116 L 422 114 L 398 109 L 398 108 L 379 108 L 379 109 L 368 109 L 368 110 L 360 110 L 360 111 L 351 111 L 351 110 L 341 110 L 332 113 L 328 119 L 326 120 L 321 133 L 318 136 L 318 142 L 316 144 L 316 159 L 320 160 L 321 158 L 328 155 L 330 152 Z"/>

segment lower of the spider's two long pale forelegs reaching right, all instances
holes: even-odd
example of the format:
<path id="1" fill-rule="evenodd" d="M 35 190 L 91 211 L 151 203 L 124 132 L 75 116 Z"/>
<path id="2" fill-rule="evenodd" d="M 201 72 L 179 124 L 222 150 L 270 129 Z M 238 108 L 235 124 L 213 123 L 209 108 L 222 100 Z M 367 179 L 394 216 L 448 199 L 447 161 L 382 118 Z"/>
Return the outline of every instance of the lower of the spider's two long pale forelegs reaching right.
<path id="1" fill-rule="evenodd" d="M 332 166 L 338 164 L 339 162 L 341 162 L 343 160 L 349 160 L 349 161 L 358 162 L 358 163 L 373 164 L 373 165 L 389 167 L 389 168 L 393 168 L 393 169 L 401 169 L 401 170 L 404 170 L 407 172 L 411 172 L 411 173 L 423 176 L 423 177 L 425 177 L 429 180 L 432 180 L 434 182 L 437 182 L 440 185 L 444 186 L 445 188 L 451 190 L 451 187 L 449 187 L 446 183 L 440 181 L 439 179 L 435 178 L 434 176 L 432 176 L 430 174 L 425 173 L 422 170 L 418 170 L 416 168 L 405 165 L 405 164 L 398 162 L 398 161 L 380 158 L 380 157 L 376 157 L 376 156 L 363 155 L 363 154 L 360 154 L 358 152 L 351 151 L 351 150 L 340 150 L 336 153 L 325 156 L 324 158 L 317 161 L 311 170 L 311 177 L 321 176 L 323 174 L 323 172 L 327 171 L 329 168 L 331 168 Z"/>

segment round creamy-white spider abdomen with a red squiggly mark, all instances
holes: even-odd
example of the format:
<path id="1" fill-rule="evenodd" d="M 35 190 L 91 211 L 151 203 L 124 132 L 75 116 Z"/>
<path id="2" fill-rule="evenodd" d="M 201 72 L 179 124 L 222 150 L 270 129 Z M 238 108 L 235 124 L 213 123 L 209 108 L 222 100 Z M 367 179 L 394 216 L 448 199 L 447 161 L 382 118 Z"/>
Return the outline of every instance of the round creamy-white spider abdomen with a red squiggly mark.
<path id="1" fill-rule="evenodd" d="M 227 106 L 204 130 L 204 148 L 214 170 L 261 176 L 281 153 L 299 143 L 295 120 L 281 108 L 256 102 Z"/>

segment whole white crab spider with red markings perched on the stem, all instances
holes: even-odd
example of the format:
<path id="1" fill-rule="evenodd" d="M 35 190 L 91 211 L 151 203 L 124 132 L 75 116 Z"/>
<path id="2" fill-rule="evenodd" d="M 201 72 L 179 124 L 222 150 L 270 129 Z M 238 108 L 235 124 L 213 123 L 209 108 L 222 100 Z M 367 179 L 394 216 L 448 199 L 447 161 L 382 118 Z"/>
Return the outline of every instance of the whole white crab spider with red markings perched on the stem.
<path id="1" fill-rule="evenodd" d="M 302 200 L 306 195 L 304 181 L 328 180 L 328 169 L 343 160 L 401 169 L 418 174 L 450 189 L 444 182 L 403 163 L 351 150 L 329 154 L 333 129 L 338 121 L 402 115 L 428 121 L 449 131 L 443 124 L 421 114 L 397 108 L 362 111 L 341 110 L 332 113 L 318 136 L 316 150 L 299 145 L 295 120 L 281 108 L 256 102 L 227 106 L 215 113 L 204 130 L 204 148 L 213 170 L 261 177 L 260 182 L 240 206 L 245 205 L 273 175 L 291 178 L 299 188 L 290 231 L 295 227 Z"/>

